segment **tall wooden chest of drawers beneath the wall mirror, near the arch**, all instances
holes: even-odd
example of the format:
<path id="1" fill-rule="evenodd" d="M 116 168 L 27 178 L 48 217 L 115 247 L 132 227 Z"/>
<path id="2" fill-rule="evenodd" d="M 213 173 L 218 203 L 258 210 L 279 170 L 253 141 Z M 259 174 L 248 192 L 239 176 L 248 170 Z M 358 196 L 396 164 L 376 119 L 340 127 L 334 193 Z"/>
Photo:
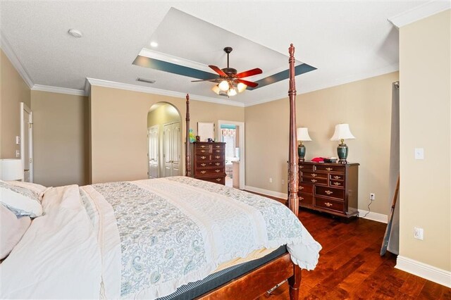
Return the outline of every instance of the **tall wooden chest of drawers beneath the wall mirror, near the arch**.
<path id="1" fill-rule="evenodd" d="M 191 144 L 194 178 L 226 185 L 226 143 L 194 142 Z"/>

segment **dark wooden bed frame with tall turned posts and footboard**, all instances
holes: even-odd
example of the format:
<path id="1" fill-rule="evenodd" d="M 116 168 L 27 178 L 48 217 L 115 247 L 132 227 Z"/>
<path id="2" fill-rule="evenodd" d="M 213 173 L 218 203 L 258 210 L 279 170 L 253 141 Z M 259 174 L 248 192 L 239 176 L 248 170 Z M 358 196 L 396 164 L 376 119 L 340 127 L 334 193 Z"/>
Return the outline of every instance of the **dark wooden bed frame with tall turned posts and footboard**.
<path id="1" fill-rule="evenodd" d="M 297 161 L 296 137 L 296 87 L 295 87 L 295 47 L 291 44 L 288 50 L 290 87 L 288 97 L 290 101 L 290 149 L 288 156 L 288 206 L 297 215 L 299 199 L 297 196 L 299 173 Z M 186 95 L 186 148 L 185 165 L 186 176 L 191 176 L 190 161 L 190 96 Z M 199 299 L 254 299 L 288 279 L 290 285 L 290 299 L 299 297 L 301 284 L 301 269 L 292 263 L 288 252 L 261 265 L 245 275 L 228 282 L 226 285 L 213 289 L 199 297 Z"/>

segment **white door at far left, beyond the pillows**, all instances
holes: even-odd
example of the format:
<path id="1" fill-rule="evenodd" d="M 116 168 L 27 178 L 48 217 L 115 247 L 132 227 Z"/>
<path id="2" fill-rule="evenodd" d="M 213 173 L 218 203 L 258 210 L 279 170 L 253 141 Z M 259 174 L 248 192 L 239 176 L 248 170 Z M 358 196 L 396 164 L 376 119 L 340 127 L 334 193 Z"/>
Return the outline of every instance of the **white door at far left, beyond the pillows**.
<path id="1" fill-rule="evenodd" d="M 20 103 L 20 158 L 23 163 L 23 181 L 33 182 L 33 113 Z"/>

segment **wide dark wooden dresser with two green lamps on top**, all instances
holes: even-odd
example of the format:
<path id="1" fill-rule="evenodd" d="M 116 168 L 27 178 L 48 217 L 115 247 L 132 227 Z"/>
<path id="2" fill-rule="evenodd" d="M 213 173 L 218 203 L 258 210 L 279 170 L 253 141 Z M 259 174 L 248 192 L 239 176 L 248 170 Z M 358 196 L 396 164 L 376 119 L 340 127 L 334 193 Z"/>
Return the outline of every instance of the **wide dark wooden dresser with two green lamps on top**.
<path id="1" fill-rule="evenodd" d="M 359 163 L 299 162 L 299 206 L 350 218 L 358 215 Z"/>

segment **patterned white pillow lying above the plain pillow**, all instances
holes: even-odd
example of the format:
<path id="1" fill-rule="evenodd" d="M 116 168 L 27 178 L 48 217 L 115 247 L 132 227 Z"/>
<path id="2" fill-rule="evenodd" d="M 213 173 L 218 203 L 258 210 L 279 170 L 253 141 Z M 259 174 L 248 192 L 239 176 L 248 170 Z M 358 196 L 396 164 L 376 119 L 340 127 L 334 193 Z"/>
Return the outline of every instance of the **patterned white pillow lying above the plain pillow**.
<path id="1" fill-rule="evenodd" d="M 0 202 L 17 216 L 29 215 L 31 218 L 36 218 L 42 215 L 39 194 L 25 187 L 0 181 Z"/>

